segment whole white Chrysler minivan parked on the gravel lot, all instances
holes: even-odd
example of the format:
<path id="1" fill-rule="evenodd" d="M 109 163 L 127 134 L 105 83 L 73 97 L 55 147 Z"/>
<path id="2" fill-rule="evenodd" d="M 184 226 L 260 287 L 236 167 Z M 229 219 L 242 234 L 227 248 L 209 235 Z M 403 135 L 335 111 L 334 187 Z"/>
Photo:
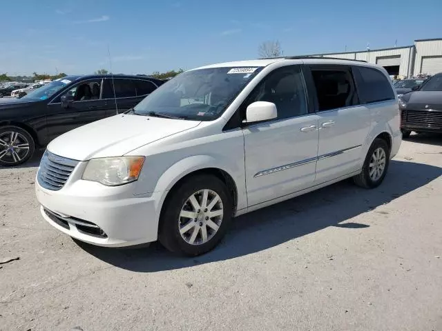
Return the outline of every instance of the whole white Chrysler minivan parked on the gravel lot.
<path id="1" fill-rule="evenodd" d="M 36 193 L 44 219 L 80 241 L 160 240 L 195 256 L 240 214 L 349 177 L 376 188 L 401 138 L 381 67 L 309 57 L 220 63 L 53 140 Z"/>

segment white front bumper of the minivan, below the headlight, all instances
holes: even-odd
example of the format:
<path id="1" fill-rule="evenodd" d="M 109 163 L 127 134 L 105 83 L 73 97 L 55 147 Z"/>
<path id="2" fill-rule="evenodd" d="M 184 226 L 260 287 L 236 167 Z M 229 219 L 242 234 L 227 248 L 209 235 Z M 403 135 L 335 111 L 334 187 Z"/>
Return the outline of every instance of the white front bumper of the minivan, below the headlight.
<path id="1" fill-rule="evenodd" d="M 79 163 L 61 190 L 43 188 L 36 179 L 44 219 L 70 237 L 94 245 L 124 247 L 156 241 L 161 194 L 134 196 L 135 183 L 106 187 L 81 180 L 84 166 Z"/>

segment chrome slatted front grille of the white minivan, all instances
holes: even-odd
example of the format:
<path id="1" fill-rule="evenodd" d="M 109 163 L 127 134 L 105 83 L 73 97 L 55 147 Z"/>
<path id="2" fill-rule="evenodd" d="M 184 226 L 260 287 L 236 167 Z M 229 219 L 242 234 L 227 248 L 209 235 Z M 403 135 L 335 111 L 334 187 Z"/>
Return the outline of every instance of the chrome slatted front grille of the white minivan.
<path id="1" fill-rule="evenodd" d="M 78 163 L 79 161 L 59 157 L 46 150 L 37 175 L 39 184 L 48 190 L 60 190 Z"/>

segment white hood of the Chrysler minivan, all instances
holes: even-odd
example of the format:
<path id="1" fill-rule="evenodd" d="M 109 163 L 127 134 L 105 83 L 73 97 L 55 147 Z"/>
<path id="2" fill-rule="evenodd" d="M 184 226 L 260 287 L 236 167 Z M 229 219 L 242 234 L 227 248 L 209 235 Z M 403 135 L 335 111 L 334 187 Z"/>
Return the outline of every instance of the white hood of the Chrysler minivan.
<path id="1" fill-rule="evenodd" d="M 119 157 L 153 141 L 195 128 L 200 121 L 119 114 L 67 132 L 48 145 L 61 157 L 87 161 Z"/>

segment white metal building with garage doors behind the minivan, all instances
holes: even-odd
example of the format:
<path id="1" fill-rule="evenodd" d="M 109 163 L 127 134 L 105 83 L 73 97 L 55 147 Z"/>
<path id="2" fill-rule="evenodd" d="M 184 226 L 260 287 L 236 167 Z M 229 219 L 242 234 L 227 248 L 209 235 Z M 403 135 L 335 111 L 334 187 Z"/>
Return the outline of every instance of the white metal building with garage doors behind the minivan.
<path id="1" fill-rule="evenodd" d="M 390 75 L 402 77 L 419 73 L 436 74 L 442 72 L 442 38 L 415 40 L 412 46 L 310 56 L 363 60 L 383 66 Z"/>

